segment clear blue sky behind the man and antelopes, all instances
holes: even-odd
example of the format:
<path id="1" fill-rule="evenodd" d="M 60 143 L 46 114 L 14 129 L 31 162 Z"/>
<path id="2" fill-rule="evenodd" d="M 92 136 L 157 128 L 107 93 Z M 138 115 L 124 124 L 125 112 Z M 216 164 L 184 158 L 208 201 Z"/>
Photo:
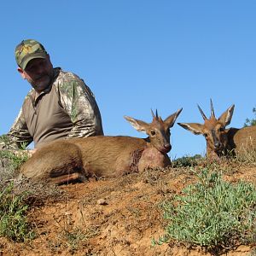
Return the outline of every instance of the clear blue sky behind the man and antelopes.
<path id="1" fill-rule="evenodd" d="M 106 135 L 145 137 L 124 115 L 151 121 L 183 108 L 177 122 L 202 123 L 196 104 L 241 127 L 256 107 L 256 1 L 3 1 L 0 134 L 9 131 L 30 84 L 16 71 L 22 39 L 44 44 L 55 67 L 78 74 L 96 96 Z M 202 136 L 175 124 L 172 159 L 204 154 Z"/>

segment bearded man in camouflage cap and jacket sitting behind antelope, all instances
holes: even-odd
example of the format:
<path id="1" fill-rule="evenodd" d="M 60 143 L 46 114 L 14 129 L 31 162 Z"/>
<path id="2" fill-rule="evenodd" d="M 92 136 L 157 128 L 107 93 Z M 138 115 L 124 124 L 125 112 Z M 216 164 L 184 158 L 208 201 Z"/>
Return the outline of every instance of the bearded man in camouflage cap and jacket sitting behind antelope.
<path id="1" fill-rule="evenodd" d="M 18 72 L 31 85 L 9 133 L 0 148 L 17 149 L 34 142 L 103 135 L 102 118 L 90 88 L 73 73 L 54 68 L 39 42 L 27 39 L 17 45 Z"/>

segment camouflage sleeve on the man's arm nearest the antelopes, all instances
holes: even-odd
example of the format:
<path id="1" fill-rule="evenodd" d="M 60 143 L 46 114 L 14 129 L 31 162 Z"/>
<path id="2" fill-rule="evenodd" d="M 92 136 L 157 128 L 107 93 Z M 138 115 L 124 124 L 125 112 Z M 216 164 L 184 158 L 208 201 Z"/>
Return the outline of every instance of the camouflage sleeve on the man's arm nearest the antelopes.
<path id="1" fill-rule="evenodd" d="M 61 105 L 73 122 L 68 137 L 103 135 L 102 117 L 90 88 L 74 76 L 59 85 Z"/>

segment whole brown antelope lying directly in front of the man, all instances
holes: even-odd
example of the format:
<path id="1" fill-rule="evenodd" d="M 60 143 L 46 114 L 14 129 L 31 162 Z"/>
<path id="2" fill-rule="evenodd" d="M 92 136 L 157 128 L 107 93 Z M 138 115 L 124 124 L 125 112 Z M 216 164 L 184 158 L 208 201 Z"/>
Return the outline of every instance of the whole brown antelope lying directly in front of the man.
<path id="1" fill-rule="evenodd" d="M 171 164 L 170 128 L 182 108 L 165 120 L 152 112 L 148 124 L 125 116 L 137 131 L 147 138 L 127 136 L 97 136 L 70 138 L 49 143 L 32 154 L 21 166 L 20 173 L 51 183 L 85 180 L 87 177 L 119 177 L 129 172 L 142 172 L 148 167 Z"/>

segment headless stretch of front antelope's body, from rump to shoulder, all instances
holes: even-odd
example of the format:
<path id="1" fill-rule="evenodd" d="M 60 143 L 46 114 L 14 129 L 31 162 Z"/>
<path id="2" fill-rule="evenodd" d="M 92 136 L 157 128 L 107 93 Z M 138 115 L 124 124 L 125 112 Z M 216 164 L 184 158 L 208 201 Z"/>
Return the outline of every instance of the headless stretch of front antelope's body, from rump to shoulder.
<path id="1" fill-rule="evenodd" d="M 45 180 L 73 172 L 87 177 L 118 177 L 137 171 L 134 168 L 147 144 L 142 138 L 121 136 L 59 140 L 38 149 L 20 172 Z"/>

